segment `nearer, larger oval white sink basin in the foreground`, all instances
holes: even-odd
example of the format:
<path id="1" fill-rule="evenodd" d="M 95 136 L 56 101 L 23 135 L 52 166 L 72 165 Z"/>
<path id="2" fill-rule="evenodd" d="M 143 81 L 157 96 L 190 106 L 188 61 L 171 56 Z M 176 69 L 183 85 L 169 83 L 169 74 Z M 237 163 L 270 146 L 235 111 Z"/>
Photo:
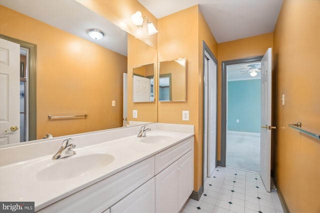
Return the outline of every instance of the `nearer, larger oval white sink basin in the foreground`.
<path id="1" fill-rule="evenodd" d="M 59 181 L 83 176 L 91 171 L 111 164 L 114 161 L 114 157 L 105 153 L 94 153 L 74 155 L 52 161 L 53 162 L 37 173 L 37 180 Z"/>

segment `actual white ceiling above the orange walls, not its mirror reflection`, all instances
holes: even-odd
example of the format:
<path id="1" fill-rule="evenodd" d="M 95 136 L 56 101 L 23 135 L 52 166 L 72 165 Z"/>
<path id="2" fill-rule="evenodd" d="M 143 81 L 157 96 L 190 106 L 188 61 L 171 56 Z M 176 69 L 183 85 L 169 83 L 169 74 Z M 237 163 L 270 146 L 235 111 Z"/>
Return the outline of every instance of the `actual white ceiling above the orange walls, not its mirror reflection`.
<path id="1" fill-rule="evenodd" d="M 156 18 L 199 4 L 218 43 L 273 32 L 282 0 L 138 0 Z"/>

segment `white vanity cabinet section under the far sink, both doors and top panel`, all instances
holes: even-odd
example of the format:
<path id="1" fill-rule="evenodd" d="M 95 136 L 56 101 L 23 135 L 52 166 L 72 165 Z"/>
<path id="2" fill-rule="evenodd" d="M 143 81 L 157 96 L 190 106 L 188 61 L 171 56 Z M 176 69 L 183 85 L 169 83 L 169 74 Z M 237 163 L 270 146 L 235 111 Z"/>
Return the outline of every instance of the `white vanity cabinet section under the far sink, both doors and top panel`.
<path id="1" fill-rule="evenodd" d="M 177 144 L 159 155 L 167 156 L 177 150 L 187 151 L 155 176 L 155 213 L 178 213 L 193 190 L 193 138 Z M 189 147 L 189 149 L 185 149 Z M 180 156 L 181 153 L 176 153 Z M 155 165 L 157 165 L 157 155 Z M 164 162 L 164 161 L 163 161 Z M 155 168 L 155 171 L 157 168 Z"/>

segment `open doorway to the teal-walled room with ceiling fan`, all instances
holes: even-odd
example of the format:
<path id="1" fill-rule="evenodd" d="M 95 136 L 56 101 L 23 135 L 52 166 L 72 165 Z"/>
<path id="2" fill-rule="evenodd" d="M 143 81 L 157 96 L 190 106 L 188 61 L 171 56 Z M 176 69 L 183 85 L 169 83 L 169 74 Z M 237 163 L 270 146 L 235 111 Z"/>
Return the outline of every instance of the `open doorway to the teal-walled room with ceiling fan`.
<path id="1" fill-rule="evenodd" d="M 222 62 L 221 166 L 259 172 L 261 58 Z"/>

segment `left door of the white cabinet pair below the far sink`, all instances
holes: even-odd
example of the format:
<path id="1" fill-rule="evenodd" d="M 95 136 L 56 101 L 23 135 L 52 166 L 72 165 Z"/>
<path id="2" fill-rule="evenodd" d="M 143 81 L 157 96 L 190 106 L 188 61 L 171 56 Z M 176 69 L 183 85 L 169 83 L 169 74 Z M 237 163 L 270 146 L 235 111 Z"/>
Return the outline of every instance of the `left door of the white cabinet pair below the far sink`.
<path id="1" fill-rule="evenodd" d="M 155 176 L 155 213 L 177 213 L 177 168 L 175 161 Z"/>

